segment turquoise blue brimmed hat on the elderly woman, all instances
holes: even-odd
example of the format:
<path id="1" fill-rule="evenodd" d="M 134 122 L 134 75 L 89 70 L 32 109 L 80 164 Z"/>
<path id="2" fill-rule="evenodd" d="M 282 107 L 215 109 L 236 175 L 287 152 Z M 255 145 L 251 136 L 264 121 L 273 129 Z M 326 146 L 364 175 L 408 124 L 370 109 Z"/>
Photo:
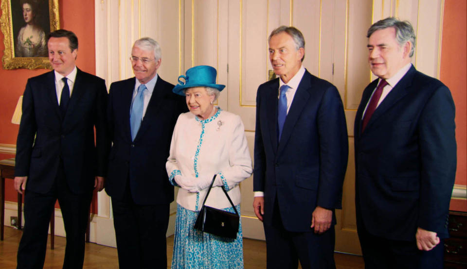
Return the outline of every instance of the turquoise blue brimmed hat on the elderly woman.
<path id="1" fill-rule="evenodd" d="M 221 91 L 224 89 L 225 85 L 216 84 L 216 76 L 217 72 L 214 67 L 191 67 L 186 70 L 186 74 L 184 76 L 181 75 L 179 77 L 179 84 L 175 85 L 172 91 L 182 96 L 185 96 L 183 90 L 191 87 L 211 87 Z M 180 79 L 183 79 L 184 81 L 181 81 Z"/>

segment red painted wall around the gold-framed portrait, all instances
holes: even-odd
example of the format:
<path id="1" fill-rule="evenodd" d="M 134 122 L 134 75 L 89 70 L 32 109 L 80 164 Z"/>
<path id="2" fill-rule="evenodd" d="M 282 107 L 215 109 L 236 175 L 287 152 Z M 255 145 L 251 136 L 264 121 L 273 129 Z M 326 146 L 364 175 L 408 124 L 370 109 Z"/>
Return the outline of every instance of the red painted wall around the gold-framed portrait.
<path id="1" fill-rule="evenodd" d="M 60 28 L 70 30 L 78 36 L 78 58 L 76 66 L 85 72 L 96 73 L 94 0 L 59 0 Z M 3 57 L 3 34 L 0 33 L 0 57 Z M 19 125 L 11 123 L 18 98 L 23 94 L 28 78 L 45 73 L 47 69 L 5 70 L 0 66 L 0 144 L 16 144 Z M 12 157 L 0 154 L 0 158 Z M 17 201 L 13 181 L 5 182 L 5 200 Z M 94 199 L 95 200 L 95 199 Z M 92 212 L 97 212 L 97 202 L 93 202 Z"/>

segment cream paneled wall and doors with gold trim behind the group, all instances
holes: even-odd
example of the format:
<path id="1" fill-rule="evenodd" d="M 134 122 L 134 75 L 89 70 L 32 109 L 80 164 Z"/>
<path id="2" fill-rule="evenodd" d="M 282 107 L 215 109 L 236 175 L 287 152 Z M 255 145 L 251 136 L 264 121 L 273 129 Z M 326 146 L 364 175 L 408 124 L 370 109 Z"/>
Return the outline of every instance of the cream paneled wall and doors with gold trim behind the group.
<path id="1" fill-rule="evenodd" d="M 352 134 L 361 93 L 374 79 L 367 64 L 366 31 L 384 17 L 411 21 L 417 33 L 413 63 L 437 77 L 443 4 L 443 0 L 96 0 L 96 72 L 108 85 L 132 77 L 128 57 L 133 42 L 143 36 L 161 44 L 158 73 L 173 84 L 192 66 L 216 67 L 217 82 L 227 85 L 218 104 L 242 117 L 252 156 L 256 89 L 271 69 L 269 33 L 280 25 L 297 27 L 305 36 L 305 68 L 335 84 L 344 102 L 350 151 L 343 209 L 337 212 L 336 250 L 359 253 Z M 264 238 L 251 206 L 252 178 L 241 184 L 241 191 L 244 236 Z M 111 205 L 104 192 L 98 203 L 91 240 L 112 245 Z M 174 218 L 172 205 L 169 233 Z"/>

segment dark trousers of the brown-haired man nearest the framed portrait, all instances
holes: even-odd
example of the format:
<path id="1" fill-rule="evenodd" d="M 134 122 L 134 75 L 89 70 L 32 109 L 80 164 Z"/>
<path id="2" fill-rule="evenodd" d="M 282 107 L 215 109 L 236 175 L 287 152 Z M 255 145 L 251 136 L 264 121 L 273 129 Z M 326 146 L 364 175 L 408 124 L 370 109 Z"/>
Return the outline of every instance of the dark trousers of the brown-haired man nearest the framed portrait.
<path id="1" fill-rule="evenodd" d="M 58 200 L 62 211 L 67 245 L 63 268 L 83 268 L 85 234 L 92 192 L 73 193 L 60 165 L 52 189 L 46 194 L 24 194 L 24 230 L 18 247 L 18 268 L 43 268 L 47 249 L 49 222 Z"/>

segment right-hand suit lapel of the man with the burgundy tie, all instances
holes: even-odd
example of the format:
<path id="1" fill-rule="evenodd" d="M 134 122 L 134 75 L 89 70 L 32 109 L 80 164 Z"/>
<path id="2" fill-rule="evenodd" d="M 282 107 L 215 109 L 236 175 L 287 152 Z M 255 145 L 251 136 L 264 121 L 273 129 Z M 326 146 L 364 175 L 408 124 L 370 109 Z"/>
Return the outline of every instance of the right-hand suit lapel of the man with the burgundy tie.
<path id="1" fill-rule="evenodd" d="M 384 113 L 392 106 L 394 106 L 397 101 L 409 93 L 408 89 L 412 85 L 414 73 L 415 67 L 412 66 L 410 67 L 409 71 L 402 77 L 402 79 L 395 85 L 391 92 L 389 92 L 386 98 L 384 98 L 384 100 L 378 105 L 375 112 L 371 116 L 370 121 L 368 121 L 368 125 L 365 127 L 365 130 L 367 128 L 371 128 L 371 125 L 377 121 L 378 118 L 384 115 Z"/>

